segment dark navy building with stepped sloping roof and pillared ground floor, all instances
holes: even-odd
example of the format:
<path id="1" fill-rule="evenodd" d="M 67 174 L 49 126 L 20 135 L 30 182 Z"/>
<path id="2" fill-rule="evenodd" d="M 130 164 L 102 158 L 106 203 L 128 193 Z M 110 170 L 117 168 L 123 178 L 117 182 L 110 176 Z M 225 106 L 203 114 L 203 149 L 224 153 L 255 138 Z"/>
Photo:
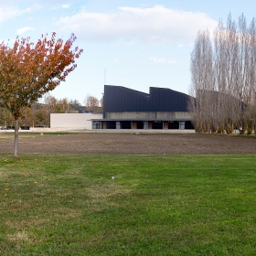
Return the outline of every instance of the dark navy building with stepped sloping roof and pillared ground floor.
<path id="1" fill-rule="evenodd" d="M 151 87 L 149 94 L 122 86 L 104 86 L 103 118 L 92 129 L 194 129 L 187 102 L 190 96 Z"/>

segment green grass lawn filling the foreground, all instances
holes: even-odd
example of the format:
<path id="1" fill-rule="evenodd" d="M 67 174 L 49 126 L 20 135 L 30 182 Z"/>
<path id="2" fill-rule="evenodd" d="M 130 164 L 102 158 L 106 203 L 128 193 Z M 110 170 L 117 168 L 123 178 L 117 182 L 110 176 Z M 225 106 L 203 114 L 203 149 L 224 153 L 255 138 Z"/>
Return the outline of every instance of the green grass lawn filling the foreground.
<path id="1" fill-rule="evenodd" d="M 1 154 L 0 255 L 255 255 L 255 162 Z"/>

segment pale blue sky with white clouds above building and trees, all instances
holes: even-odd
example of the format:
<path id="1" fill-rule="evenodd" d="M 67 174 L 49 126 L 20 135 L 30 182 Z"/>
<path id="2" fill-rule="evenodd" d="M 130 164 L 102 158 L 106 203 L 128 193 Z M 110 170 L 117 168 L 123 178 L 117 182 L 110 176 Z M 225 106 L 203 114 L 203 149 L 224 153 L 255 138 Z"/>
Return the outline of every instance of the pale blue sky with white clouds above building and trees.
<path id="1" fill-rule="evenodd" d="M 51 94 L 101 98 L 103 85 L 148 92 L 149 87 L 188 93 L 190 52 L 199 29 L 212 31 L 231 13 L 248 21 L 255 0 L 7 0 L 0 3 L 0 39 L 64 40 L 74 33 L 83 48 L 78 68 Z"/>

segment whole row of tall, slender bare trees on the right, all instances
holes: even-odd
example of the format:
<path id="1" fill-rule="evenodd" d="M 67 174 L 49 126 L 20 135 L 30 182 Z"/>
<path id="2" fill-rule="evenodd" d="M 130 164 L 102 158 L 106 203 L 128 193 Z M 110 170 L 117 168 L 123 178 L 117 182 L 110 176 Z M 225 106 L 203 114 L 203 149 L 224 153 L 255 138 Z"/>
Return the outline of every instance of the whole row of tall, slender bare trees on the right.
<path id="1" fill-rule="evenodd" d="M 229 14 L 213 37 L 198 31 L 191 53 L 188 103 L 197 133 L 251 134 L 256 120 L 256 22 Z"/>

